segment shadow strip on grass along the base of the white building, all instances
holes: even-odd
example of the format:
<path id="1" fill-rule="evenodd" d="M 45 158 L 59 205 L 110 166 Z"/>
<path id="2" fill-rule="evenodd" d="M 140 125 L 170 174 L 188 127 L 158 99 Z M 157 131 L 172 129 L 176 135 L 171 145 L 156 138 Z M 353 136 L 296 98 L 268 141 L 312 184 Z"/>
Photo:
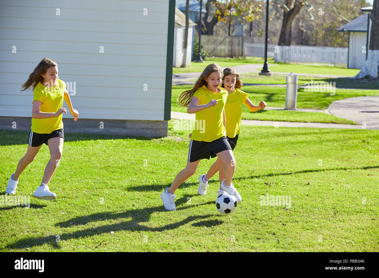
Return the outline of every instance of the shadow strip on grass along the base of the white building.
<path id="1" fill-rule="evenodd" d="M 7 145 L 23 145 L 28 143 L 28 136 L 30 131 L 16 131 L 0 129 L 0 146 Z M 132 137 L 123 135 L 108 135 L 108 134 L 79 134 L 64 132 L 64 141 L 89 141 L 89 140 L 113 140 L 113 139 L 137 139 L 137 140 L 157 140 L 159 138 L 147 137 Z"/>

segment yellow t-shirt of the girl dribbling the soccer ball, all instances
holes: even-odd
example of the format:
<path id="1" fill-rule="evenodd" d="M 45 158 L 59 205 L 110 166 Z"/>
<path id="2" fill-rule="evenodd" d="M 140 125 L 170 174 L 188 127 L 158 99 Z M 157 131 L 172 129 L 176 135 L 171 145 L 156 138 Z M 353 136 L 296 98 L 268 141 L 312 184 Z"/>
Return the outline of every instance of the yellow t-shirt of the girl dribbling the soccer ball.
<path id="1" fill-rule="evenodd" d="M 203 85 L 193 94 L 193 96 L 199 99 L 198 105 L 207 104 L 212 99 L 216 99 L 217 104 L 196 112 L 196 121 L 191 136 L 192 140 L 211 142 L 222 136 L 226 136 L 226 130 L 222 122 L 228 92 L 222 87 L 218 89 L 220 89 L 220 92 L 213 93 Z"/>

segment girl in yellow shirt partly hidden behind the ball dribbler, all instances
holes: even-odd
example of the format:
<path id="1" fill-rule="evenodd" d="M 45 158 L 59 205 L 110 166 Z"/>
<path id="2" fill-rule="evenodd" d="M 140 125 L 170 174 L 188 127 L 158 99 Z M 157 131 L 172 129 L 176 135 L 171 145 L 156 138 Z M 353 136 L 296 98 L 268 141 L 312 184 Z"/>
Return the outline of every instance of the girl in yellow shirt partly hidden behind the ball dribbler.
<path id="1" fill-rule="evenodd" d="M 228 92 L 227 101 L 225 104 L 225 116 L 226 116 L 226 135 L 229 141 L 232 151 L 237 145 L 238 135 L 240 134 L 241 126 L 241 113 L 242 104 L 245 104 L 251 112 L 257 112 L 266 107 L 265 101 L 261 101 L 258 105 L 254 105 L 248 98 L 248 94 L 241 90 L 243 86 L 240 75 L 236 73 L 232 68 L 226 68 L 223 72 L 224 78 L 222 79 L 222 87 Z M 207 174 L 200 175 L 199 177 L 199 194 L 207 194 L 206 188 L 208 187 L 208 180 L 213 177 L 219 171 L 220 177 L 220 190 L 217 196 L 224 190 L 221 186 L 221 181 L 225 178 L 224 167 L 221 166 L 221 160 L 219 157 L 216 162 L 208 170 Z M 205 193 L 204 193 L 205 188 Z M 238 200 L 237 200 L 238 201 Z"/>

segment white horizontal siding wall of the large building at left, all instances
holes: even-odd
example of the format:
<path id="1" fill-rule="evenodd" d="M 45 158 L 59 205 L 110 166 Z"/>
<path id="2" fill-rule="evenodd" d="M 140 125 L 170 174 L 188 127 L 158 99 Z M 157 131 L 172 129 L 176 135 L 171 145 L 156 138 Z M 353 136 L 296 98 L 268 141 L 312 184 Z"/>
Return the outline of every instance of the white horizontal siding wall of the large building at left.
<path id="1" fill-rule="evenodd" d="M 0 116 L 31 117 L 33 92 L 20 85 L 47 57 L 60 79 L 76 82 L 80 118 L 163 120 L 168 8 L 169 0 L 2 1 Z"/>

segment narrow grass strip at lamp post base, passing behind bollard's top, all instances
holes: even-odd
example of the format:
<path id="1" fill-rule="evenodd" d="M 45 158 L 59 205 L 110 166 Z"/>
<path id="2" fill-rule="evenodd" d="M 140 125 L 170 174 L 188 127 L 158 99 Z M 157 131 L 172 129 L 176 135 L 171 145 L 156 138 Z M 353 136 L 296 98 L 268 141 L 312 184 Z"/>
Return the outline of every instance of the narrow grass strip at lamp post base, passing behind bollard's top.
<path id="1" fill-rule="evenodd" d="M 248 73 L 241 75 L 241 80 L 244 84 L 286 84 L 286 76 L 282 74 L 273 74 L 272 76 L 262 76 L 258 75 L 258 73 Z M 352 88 L 352 89 L 378 89 L 376 81 L 357 81 L 357 80 L 349 80 L 349 78 L 319 78 L 314 76 L 298 76 L 298 85 L 304 86 L 306 82 L 335 82 L 335 86 Z M 196 81 L 196 80 L 195 80 Z"/>

